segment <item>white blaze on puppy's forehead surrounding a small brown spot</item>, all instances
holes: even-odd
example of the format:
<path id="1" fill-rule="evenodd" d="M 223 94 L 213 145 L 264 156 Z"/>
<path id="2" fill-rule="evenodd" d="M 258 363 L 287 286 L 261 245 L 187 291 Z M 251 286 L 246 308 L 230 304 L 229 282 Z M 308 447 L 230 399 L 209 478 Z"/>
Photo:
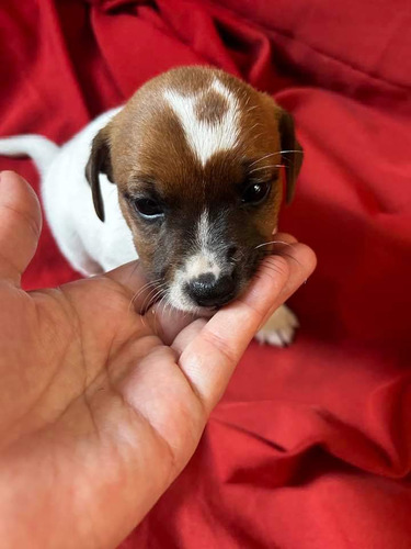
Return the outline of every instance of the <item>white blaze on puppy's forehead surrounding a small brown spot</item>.
<path id="1" fill-rule="evenodd" d="M 227 103 L 225 113 L 213 122 L 198 120 L 196 107 L 208 91 L 219 93 Z M 179 117 L 185 137 L 203 166 L 216 153 L 229 150 L 237 145 L 239 135 L 239 101 L 222 82 L 214 79 L 209 88 L 195 94 L 182 94 L 165 90 L 164 98 Z"/>

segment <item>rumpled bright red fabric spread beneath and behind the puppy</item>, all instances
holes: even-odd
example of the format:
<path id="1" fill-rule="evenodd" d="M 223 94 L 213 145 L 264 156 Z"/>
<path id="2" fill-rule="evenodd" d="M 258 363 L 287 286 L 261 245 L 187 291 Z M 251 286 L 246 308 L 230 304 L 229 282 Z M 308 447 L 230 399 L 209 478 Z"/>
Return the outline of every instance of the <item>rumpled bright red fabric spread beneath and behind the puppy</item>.
<path id="1" fill-rule="evenodd" d="M 409 0 L 3 1 L 0 134 L 62 142 L 156 74 L 274 93 L 306 160 L 282 228 L 317 272 L 289 349 L 253 343 L 183 474 L 123 548 L 411 547 Z M 1 159 L 34 184 L 28 161 Z M 75 278 L 45 227 L 27 288 Z"/>

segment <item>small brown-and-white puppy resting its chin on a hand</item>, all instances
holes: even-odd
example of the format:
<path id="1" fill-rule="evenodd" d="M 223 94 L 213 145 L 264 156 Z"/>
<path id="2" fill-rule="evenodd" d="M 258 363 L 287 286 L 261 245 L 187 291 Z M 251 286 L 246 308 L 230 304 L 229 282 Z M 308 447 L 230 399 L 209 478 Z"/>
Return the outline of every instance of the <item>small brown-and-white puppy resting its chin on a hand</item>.
<path id="1" fill-rule="evenodd" d="M 302 161 L 286 111 L 205 67 L 153 78 L 61 148 L 25 135 L 1 139 L 0 153 L 39 167 L 50 229 L 76 270 L 138 255 L 159 296 L 199 315 L 255 273 L 275 240 L 283 176 L 289 203 Z M 282 346 L 296 326 L 283 305 L 258 338 Z"/>

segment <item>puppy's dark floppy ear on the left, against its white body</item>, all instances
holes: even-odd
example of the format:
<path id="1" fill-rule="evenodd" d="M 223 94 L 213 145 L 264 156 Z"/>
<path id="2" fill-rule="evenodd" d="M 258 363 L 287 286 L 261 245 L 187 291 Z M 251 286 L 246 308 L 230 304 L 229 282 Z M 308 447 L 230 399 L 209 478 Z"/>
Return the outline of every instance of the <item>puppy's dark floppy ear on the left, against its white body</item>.
<path id="1" fill-rule="evenodd" d="M 100 188 L 100 173 L 105 173 L 109 181 L 113 182 L 109 135 L 109 126 L 100 130 L 91 145 L 90 158 L 85 166 L 85 178 L 91 187 L 94 210 L 101 221 L 104 221 L 104 204 Z"/>

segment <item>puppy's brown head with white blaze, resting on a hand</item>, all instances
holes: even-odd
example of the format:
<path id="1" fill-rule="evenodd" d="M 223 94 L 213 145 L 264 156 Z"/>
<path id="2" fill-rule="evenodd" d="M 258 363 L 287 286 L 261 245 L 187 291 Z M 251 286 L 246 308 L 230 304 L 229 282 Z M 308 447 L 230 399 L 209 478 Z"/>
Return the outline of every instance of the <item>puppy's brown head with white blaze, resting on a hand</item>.
<path id="1" fill-rule="evenodd" d="M 102 221 L 99 173 L 117 184 L 149 279 L 174 307 L 202 313 L 255 272 L 276 231 L 283 173 L 289 202 L 301 161 L 293 120 L 269 96 L 186 67 L 135 93 L 94 138 L 85 171 Z"/>

